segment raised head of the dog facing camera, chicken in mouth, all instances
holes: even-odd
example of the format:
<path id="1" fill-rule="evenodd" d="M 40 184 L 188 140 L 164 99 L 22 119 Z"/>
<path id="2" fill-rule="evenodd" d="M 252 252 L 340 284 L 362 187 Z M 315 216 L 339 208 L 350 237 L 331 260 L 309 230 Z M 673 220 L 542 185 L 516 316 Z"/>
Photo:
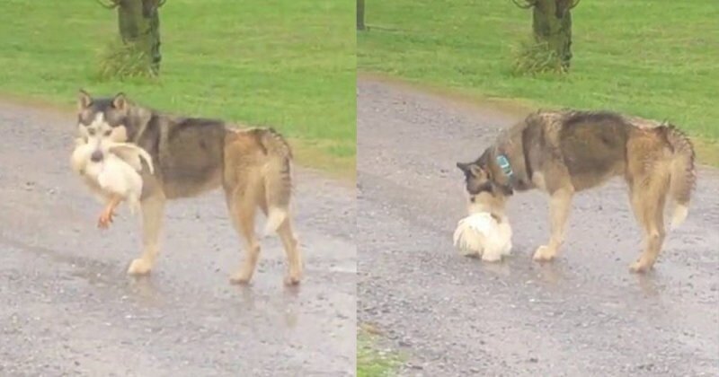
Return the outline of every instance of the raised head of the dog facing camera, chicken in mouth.
<path id="1" fill-rule="evenodd" d="M 83 90 L 78 93 L 77 134 L 85 144 L 93 145 L 93 162 L 102 161 L 111 143 L 128 141 L 129 106 L 123 93 L 97 99 Z"/>

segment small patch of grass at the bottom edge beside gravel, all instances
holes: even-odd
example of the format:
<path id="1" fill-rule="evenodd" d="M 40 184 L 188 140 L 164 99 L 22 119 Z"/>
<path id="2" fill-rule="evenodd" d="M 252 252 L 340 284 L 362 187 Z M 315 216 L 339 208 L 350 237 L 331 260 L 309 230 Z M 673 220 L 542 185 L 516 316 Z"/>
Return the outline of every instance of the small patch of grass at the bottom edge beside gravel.
<path id="1" fill-rule="evenodd" d="M 367 329 L 358 330 L 357 377 L 385 377 L 395 374 L 401 363 L 399 355 L 377 350 L 377 336 Z"/>

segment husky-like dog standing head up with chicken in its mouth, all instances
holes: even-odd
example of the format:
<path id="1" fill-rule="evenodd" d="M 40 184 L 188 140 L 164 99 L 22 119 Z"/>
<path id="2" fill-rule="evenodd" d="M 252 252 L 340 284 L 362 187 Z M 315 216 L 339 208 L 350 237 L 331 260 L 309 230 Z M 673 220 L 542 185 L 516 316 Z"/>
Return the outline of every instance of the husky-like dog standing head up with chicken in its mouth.
<path id="1" fill-rule="evenodd" d="M 290 211 L 293 162 L 287 140 L 271 127 L 247 127 L 209 118 L 182 118 L 146 108 L 124 93 L 93 98 L 80 90 L 77 134 L 99 140 L 95 159 L 105 158 L 103 143 L 132 143 L 148 153 L 155 171 L 141 173 L 143 248 L 128 273 L 149 274 L 160 250 L 164 206 L 168 200 L 196 197 L 214 189 L 225 193 L 229 217 L 244 239 L 244 262 L 230 277 L 233 284 L 251 281 L 260 255 L 254 232 L 259 208 L 267 216 L 265 235 L 277 232 L 288 259 L 285 284 L 297 285 L 302 256 Z M 94 139 L 93 139 L 94 137 Z"/>

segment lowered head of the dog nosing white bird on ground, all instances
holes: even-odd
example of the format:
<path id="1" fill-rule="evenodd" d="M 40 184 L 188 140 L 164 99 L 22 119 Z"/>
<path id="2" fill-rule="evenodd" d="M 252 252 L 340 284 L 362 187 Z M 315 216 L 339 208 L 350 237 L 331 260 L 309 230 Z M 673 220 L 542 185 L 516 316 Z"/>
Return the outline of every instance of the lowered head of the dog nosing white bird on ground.
<path id="1" fill-rule="evenodd" d="M 509 184 L 497 180 L 502 171 L 491 155 L 487 149 L 475 162 L 457 162 L 457 168 L 465 174 L 465 189 L 477 210 L 502 213 L 507 197 L 514 191 Z"/>

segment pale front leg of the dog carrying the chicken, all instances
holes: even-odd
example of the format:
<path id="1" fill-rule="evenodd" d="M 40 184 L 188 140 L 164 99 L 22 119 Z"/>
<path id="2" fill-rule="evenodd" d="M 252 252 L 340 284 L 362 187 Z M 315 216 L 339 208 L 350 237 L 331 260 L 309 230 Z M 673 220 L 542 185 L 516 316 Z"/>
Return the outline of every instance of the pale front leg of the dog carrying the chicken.
<path id="1" fill-rule="evenodd" d="M 142 208 L 142 255 L 130 263 L 128 274 L 146 275 L 155 265 L 160 251 L 165 198 L 162 194 L 146 197 L 140 203 Z"/>

